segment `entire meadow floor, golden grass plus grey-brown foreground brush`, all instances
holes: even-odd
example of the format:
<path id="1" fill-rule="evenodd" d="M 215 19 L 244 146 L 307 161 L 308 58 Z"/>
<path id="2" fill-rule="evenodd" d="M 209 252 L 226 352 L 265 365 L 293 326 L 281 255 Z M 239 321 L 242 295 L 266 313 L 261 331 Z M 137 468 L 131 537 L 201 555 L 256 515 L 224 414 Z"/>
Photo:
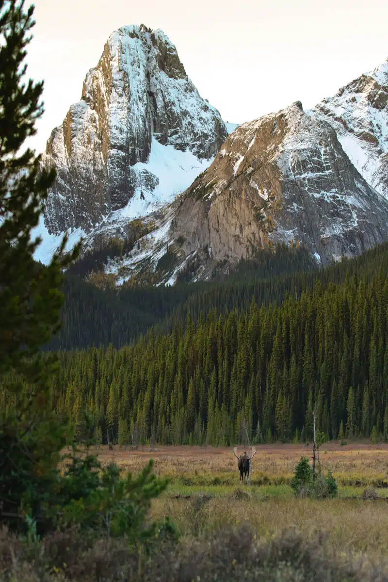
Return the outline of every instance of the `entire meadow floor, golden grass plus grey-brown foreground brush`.
<path id="1" fill-rule="evenodd" d="M 323 445 L 322 471 L 339 485 L 332 499 L 296 498 L 291 488 L 311 447 L 256 449 L 251 485 L 239 481 L 231 448 L 91 449 L 103 466 L 133 474 L 154 459 L 169 485 L 151 518 L 169 516 L 173 539 L 162 534 L 145 552 L 124 538 L 88 542 L 74 527 L 23 543 L 3 530 L 0 582 L 388 582 L 388 446 Z"/>

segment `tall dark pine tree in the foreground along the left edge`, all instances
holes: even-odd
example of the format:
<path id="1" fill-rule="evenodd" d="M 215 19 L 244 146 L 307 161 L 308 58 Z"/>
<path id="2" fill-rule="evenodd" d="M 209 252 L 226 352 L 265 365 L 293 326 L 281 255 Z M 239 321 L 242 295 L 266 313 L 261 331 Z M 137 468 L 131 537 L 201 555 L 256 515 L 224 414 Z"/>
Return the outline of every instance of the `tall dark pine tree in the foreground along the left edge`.
<path id="1" fill-rule="evenodd" d="M 0 523 L 22 527 L 22 503 L 40 521 L 48 482 L 57 474 L 67 427 L 50 408 L 49 378 L 56 356 L 41 352 L 59 329 L 63 240 L 48 267 L 34 261 L 33 239 L 54 171 L 40 169 L 27 137 L 43 113 L 43 83 L 24 81 L 34 7 L 0 0 L 0 385 L 12 402 L 0 413 Z M 22 386 L 28 384 L 28 391 Z"/>

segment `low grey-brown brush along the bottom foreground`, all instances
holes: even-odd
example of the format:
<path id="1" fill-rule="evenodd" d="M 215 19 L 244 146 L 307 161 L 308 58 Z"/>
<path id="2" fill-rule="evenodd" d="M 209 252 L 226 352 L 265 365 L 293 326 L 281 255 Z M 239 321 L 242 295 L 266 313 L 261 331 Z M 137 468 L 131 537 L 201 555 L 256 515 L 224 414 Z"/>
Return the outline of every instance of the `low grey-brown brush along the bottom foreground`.
<path id="1" fill-rule="evenodd" d="M 80 542 L 80 548 L 73 539 Z M 70 552 L 66 550 L 66 540 Z M 130 548 L 124 540 L 99 539 L 85 548 L 80 534 L 71 530 L 49 534 L 40 542 L 35 559 L 27 560 L 27 544 L 5 533 L 0 535 L 0 558 L 4 556 L 0 559 L 0 579 L 15 582 L 386 580 L 385 559 L 371 563 L 366 556 L 330 549 L 327 542 L 328 536 L 320 531 L 307 539 L 294 528 L 260 542 L 255 532 L 245 525 L 179 545 L 161 541 L 156 546 L 158 551 L 147 555 L 141 548 Z M 57 545 L 61 548 L 60 554 L 52 554 L 51 549 Z"/>

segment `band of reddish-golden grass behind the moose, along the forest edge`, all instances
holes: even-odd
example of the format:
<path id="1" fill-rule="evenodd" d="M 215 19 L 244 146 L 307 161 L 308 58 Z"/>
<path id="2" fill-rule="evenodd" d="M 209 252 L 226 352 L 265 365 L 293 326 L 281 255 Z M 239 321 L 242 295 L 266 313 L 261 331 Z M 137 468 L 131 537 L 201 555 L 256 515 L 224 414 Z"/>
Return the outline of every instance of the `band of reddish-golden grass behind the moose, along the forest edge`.
<path id="1" fill-rule="evenodd" d="M 289 482 L 300 457 L 311 456 L 311 448 L 304 445 L 257 445 L 256 449 L 252 481 L 257 485 Z M 118 446 L 108 450 L 104 446 L 97 452 L 102 464 L 114 461 L 123 470 L 133 473 L 138 473 L 149 459 L 154 459 L 156 474 L 180 484 L 239 483 L 232 448 L 156 446 L 150 452 L 146 446 L 143 450 L 141 447 L 124 450 Z M 323 469 L 330 469 L 339 485 L 388 487 L 388 445 L 385 443 L 339 446 L 330 442 L 322 446 L 320 456 Z"/>

